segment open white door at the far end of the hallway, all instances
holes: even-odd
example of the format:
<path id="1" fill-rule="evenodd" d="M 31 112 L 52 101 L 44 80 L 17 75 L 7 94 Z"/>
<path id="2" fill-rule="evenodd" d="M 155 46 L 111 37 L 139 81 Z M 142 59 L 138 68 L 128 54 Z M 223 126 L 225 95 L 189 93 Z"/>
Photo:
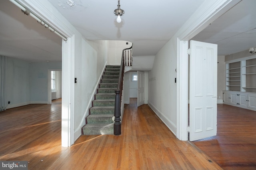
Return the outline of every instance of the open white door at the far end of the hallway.
<path id="1" fill-rule="evenodd" d="M 137 102 L 138 102 L 138 107 L 141 106 L 142 104 L 144 104 L 144 86 L 145 86 L 145 82 L 144 82 L 144 72 L 143 71 L 137 71 L 137 75 L 138 75 L 138 98 L 137 98 Z"/>

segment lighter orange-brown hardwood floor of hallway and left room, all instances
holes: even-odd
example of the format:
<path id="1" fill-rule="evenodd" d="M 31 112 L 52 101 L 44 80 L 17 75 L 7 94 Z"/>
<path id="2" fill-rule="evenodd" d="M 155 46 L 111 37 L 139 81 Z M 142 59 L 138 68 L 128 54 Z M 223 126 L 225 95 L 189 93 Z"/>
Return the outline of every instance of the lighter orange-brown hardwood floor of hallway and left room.
<path id="1" fill-rule="evenodd" d="M 61 100 L 0 112 L 0 160 L 27 160 L 31 170 L 222 169 L 179 141 L 147 106 L 125 105 L 122 135 L 81 136 L 61 147 Z"/>

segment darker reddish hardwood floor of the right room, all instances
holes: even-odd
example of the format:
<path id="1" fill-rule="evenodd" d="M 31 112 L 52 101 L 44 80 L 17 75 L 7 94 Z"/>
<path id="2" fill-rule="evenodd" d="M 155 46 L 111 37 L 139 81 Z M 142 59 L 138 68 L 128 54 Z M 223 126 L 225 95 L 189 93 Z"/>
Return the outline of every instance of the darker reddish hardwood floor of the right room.
<path id="1" fill-rule="evenodd" d="M 193 143 L 224 170 L 255 170 L 256 111 L 218 104 L 217 136 Z"/>

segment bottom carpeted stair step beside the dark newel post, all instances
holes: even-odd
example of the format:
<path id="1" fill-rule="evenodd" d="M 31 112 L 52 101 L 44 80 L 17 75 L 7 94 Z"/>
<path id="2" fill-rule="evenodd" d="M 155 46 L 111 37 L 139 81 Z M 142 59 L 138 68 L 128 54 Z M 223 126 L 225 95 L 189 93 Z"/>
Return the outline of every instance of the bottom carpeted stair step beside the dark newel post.
<path id="1" fill-rule="evenodd" d="M 84 135 L 113 135 L 114 123 L 90 123 L 83 127 Z"/>

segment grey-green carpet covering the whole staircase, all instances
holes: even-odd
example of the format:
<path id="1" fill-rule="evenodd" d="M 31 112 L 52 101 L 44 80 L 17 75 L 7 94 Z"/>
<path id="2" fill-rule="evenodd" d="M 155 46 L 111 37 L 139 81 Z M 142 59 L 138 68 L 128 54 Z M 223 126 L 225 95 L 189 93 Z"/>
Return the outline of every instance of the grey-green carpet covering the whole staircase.
<path id="1" fill-rule="evenodd" d="M 107 65 L 95 94 L 86 125 L 82 128 L 84 135 L 114 134 L 115 91 L 118 85 L 120 66 Z"/>

